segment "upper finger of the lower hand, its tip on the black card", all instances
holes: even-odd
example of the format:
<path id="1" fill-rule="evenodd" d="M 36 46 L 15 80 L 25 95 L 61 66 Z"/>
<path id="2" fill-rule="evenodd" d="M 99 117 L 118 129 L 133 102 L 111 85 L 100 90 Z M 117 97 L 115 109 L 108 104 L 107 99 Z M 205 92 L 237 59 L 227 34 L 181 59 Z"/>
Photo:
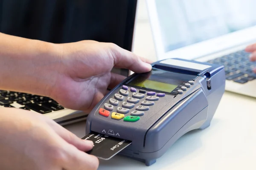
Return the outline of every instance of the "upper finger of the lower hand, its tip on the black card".
<path id="1" fill-rule="evenodd" d="M 61 125 L 53 127 L 53 130 L 61 136 L 62 139 L 64 139 L 69 144 L 74 145 L 77 149 L 81 151 L 88 151 L 93 148 L 93 142 L 90 140 L 83 140 L 80 139 L 78 136 L 76 136 L 74 133 L 70 132 L 69 130 L 65 129 Z"/>

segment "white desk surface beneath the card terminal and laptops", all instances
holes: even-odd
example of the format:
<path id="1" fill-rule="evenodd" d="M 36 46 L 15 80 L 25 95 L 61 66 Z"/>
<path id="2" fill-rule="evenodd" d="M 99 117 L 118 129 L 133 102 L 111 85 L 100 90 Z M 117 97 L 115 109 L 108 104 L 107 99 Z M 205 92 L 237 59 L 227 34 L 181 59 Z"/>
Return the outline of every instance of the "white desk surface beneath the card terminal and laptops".
<path id="1" fill-rule="evenodd" d="M 137 29 L 134 52 L 154 59 L 147 23 Z M 85 122 L 65 127 L 79 137 L 85 135 Z M 210 127 L 186 133 L 149 167 L 119 155 L 100 160 L 99 170 L 131 169 L 256 170 L 256 99 L 225 92 Z"/>

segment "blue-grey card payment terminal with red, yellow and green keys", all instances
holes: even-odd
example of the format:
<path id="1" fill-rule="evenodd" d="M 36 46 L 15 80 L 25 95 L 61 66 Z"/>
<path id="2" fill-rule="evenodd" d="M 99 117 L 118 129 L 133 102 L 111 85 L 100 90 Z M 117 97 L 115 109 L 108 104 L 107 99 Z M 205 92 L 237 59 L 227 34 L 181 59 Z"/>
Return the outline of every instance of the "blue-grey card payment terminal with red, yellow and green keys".
<path id="1" fill-rule="evenodd" d="M 152 63 L 113 88 L 87 118 L 86 133 L 131 141 L 119 154 L 153 164 L 183 134 L 210 125 L 225 90 L 221 65 L 186 59 Z"/>

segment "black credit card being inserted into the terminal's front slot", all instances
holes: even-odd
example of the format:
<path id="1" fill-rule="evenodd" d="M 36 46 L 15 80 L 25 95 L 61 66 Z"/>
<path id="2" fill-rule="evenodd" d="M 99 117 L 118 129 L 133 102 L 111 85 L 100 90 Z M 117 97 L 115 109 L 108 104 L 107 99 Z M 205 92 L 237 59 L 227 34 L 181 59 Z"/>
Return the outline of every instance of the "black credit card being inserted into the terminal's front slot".
<path id="1" fill-rule="evenodd" d="M 86 153 L 104 160 L 111 159 L 131 144 L 131 141 L 128 140 L 114 138 L 112 136 L 94 132 L 88 133 L 86 136 L 82 137 L 82 139 L 90 140 L 94 143 L 93 149 Z"/>

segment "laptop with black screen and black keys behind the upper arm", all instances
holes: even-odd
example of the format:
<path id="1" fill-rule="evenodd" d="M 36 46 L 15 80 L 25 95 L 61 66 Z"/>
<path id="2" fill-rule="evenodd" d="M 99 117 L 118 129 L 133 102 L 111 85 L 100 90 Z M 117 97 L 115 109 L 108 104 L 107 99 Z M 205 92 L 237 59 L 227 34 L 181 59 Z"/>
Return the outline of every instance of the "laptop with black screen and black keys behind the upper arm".
<path id="1" fill-rule="evenodd" d="M 43 1 L 44 0 L 42 0 L 42 2 Z M 63 7 L 61 8 L 63 8 L 63 10 L 65 11 L 65 4 L 62 5 Z M 11 7 L 18 8 L 18 6 Z M 7 5 L 6 8 L 8 8 Z M 67 20 L 64 20 L 64 25 L 62 25 L 62 23 L 60 23 L 61 16 L 58 16 L 57 18 L 55 18 L 58 22 L 46 21 L 47 23 L 52 23 L 52 30 L 49 31 L 49 27 L 46 27 L 47 29 L 44 29 L 44 26 L 39 26 L 39 24 L 41 25 L 41 23 L 37 23 L 38 18 L 41 17 L 41 15 L 38 13 L 35 13 L 34 17 L 31 18 L 28 18 L 26 16 L 26 22 L 29 22 L 30 20 L 31 23 L 29 27 L 24 27 L 24 25 L 26 24 L 23 24 L 22 22 L 16 22 L 15 17 L 10 17 L 8 20 L 6 20 L 6 17 L 9 16 L 9 14 L 6 14 L 6 17 L 4 17 L 6 21 L 3 19 L 0 22 L 0 31 L 6 34 L 34 38 L 55 43 L 75 42 L 80 40 L 113 42 L 128 51 L 133 51 L 134 23 L 137 9 L 137 0 L 122 2 L 107 2 L 105 0 L 97 2 L 83 1 L 80 3 L 79 8 L 84 9 L 78 11 L 78 14 L 87 14 L 87 17 L 84 16 L 84 23 L 76 23 L 78 21 L 74 20 L 74 18 L 72 19 L 71 16 L 67 18 Z M 88 11 L 85 11 L 86 9 Z M 30 10 L 30 8 L 28 8 L 27 10 Z M 5 12 L 6 11 L 8 12 L 7 9 L 5 10 Z M 49 10 L 49 12 L 51 12 L 51 10 Z M 52 12 L 52 16 L 54 16 L 54 11 Z M 73 12 L 72 14 L 74 14 L 74 16 L 76 15 L 75 12 Z M 4 15 L 4 13 L 2 15 Z M 49 19 L 51 18 L 52 17 L 49 17 Z M 44 18 L 44 20 L 47 19 L 48 18 Z M 10 24 L 10 21 L 12 24 Z M 73 22 L 73 25 L 65 25 L 69 22 Z M 17 25 L 19 23 L 21 24 Z M 66 29 L 70 32 L 59 31 L 57 29 L 59 26 L 66 26 L 64 30 Z M 17 31 L 13 31 L 14 29 L 12 28 L 18 29 Z M 34 28 L 37 29 L 35 30 Z M 38 34 L 36 31 L 40 32 L 40 34 Z M 121 74 L 126 77 L 130 74 L 128 70 L 119 68 L 113 68 L 112 72 L 116 74 Z M 35 113 L 41 113 L 49 117 L 50 119 L 53 119 L 60 125 L 68 125 L 71 123 L 86 120 L 87 115 L 89 114 L 83 111 L 76 111 L 64 108 L 63 106 L 59 105 L 57 101 L 46 96 L 38 96 L 17 91 L 0 90 L 0 107 L 14 107 L 29 110 Z"/>

